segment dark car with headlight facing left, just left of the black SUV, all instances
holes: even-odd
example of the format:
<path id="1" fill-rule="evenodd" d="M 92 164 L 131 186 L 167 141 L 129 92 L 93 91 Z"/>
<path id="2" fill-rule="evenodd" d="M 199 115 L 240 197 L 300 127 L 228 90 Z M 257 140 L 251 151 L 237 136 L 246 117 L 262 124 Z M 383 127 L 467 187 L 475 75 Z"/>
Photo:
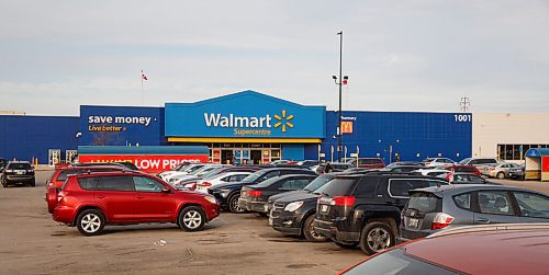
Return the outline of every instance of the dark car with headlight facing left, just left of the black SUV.
<path id="1" fill-rule="evenodd" d="M 270 196 L 267 200 L 269 226 L 285 234 L 303 236 L 311 242 L 327 241 L 328 238 L 317 234 L 313 229 L 316 200 L 322 194 L 322 190 L 337 175 L 341 174 L 346 173 L 318 175 L 302 191 Z"/>

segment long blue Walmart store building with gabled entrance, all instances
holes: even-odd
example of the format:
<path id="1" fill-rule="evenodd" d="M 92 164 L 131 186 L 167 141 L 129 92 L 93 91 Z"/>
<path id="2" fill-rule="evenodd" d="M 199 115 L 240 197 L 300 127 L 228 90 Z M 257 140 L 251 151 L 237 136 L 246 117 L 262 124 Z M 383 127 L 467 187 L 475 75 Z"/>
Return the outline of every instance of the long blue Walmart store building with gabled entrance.
<path id="1" fill-rule="evenodd" d="M 472 154 L 472 114 L 341 114 L 341 156 L 385 162 Z M 337 112 L 255 91 L 165 107 L 80 106 L 79 117 L 0 116 L 0 158 L 70 159 L 78 146 L 208 146 L 212 162 L 337 159 Z"/>

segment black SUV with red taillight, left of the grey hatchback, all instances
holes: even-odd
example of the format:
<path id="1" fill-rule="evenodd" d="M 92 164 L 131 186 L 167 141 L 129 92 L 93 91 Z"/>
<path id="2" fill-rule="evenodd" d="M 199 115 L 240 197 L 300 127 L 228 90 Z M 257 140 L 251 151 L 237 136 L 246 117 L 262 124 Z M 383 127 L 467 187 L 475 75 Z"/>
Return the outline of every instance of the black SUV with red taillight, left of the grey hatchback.
<path id="1" fill-rule="evenodd" d="M 340 175 L 322 190 L 313 228 L 339 247 L 374 254 L 394 245 L 408 191 L 447 185 L 441 179 L 372 172 Z"/>

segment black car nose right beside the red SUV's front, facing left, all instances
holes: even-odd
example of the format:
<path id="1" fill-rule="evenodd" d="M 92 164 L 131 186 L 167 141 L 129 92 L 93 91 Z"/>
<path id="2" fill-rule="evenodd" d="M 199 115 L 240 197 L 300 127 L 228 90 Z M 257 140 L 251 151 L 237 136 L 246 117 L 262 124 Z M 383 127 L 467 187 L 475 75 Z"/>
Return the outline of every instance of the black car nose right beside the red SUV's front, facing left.
<path id="1" fill-rule="evenodd" d="M 240 197 L 240 190 L 244 185 L 258 184 L 265 180 L 287 175 L 287 174 L 312 174 L 316 175 L 314 171 L 301 168 L 268 168 L 254 172 L 246 176 L 242 182 L 222 183 L 216 186 L 210 187 L 208 193 L 214 195 L 220 200 L 224 209 L 232 213 L 245 213 L 246 210 L 238 207 L 238 198 Z"/>

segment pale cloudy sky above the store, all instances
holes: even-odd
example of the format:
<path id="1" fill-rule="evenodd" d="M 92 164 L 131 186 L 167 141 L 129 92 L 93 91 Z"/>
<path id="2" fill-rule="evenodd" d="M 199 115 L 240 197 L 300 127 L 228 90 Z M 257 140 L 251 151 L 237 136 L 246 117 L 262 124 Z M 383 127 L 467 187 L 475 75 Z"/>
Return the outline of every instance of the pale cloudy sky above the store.
<path id="1" fill-rule="evenodd" d="M 0 112 L 254 90 L 352 111 L 549 111 L 547 0 L 0 0 Z M 142 89 L 141 70 L 148 80 Z"/>

